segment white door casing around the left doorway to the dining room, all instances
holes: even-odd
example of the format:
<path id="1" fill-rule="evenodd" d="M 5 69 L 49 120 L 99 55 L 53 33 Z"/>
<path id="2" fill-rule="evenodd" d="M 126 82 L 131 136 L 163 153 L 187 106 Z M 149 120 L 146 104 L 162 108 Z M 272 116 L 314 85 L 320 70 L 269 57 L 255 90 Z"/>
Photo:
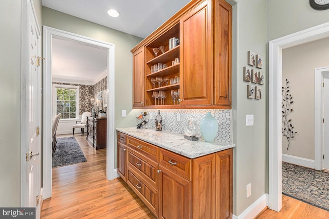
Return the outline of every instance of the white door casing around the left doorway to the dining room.
<path id="1" fill-rule="evenodd" d="M 92 45 L 107 51 L 107 137 L 106 137 L 106 178 L 113 180 L 114 170 L 114 45 L 98 41 L 93 38 L 62 31 L 44 26 L 43 31 L 44 56 L 46 61 L 43 66 L 43 198 L 51 197 L 52 187 L 52 147 L 51 147 L 51 120 L 52 120 L 52 39 L 66 38 Z"/>

